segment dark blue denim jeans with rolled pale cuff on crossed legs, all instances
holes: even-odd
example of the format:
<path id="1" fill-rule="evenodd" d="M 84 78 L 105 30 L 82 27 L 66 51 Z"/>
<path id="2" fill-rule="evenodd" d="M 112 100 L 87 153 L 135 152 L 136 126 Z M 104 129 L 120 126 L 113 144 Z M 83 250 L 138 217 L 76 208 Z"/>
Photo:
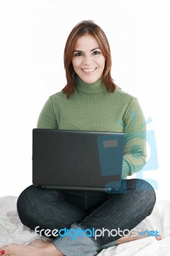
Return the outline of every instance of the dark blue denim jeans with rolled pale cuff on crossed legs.
<path id="1" fill-rule="evenodd" d="M 115 193 L 29 186 L 17 201 L 20 220 L 32 230 L 37 226 L 38 230 L 84 230 L 86 236 L 75 239 L 63 233 L 51 236 L 52 243 L 66 256 L 97 255 L 121 237 L 116 233 L 109 236 L 107 230 L 131 230 L 151 214 L 155 205 L 155 191 L 145 180 L 122 180 L 122 184 Z M 104 236 L 91 236 L 93 229 L 105 229 Z"/>

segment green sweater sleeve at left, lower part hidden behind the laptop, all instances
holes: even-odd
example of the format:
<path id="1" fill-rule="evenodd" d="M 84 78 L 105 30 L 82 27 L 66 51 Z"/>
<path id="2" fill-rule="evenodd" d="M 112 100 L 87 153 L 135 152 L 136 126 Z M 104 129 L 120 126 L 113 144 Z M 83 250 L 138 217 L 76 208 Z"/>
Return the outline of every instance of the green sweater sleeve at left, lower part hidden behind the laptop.
<path id="1" fill-rule="evenodd" d="M 40 129 L 58 129 L 58 122 L 54 110 L 52 108 L 52 102 L 49 97 L 38 118 L 37 128 Z"/>

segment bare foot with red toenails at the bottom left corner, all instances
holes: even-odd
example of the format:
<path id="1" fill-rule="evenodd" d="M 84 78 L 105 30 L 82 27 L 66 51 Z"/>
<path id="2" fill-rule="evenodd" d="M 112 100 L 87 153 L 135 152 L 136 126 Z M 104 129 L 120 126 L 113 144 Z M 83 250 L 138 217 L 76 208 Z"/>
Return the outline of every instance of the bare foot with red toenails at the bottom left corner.
<path id="1" fill-rule="evenodd" d="M 40 239 L 36 239 L 40 240 Z M 44 243 L 43 243 L 44 242 Z M 0 248 L 1 255 L 9 256 L 64 256 L 54 244 L 45 241 L 33 241 L 29 245 L 10 244 Z"/>

